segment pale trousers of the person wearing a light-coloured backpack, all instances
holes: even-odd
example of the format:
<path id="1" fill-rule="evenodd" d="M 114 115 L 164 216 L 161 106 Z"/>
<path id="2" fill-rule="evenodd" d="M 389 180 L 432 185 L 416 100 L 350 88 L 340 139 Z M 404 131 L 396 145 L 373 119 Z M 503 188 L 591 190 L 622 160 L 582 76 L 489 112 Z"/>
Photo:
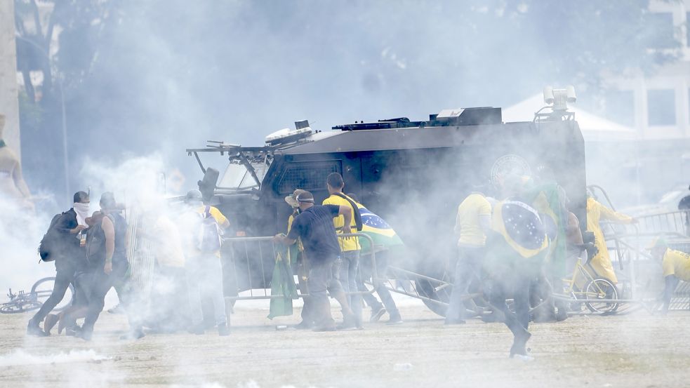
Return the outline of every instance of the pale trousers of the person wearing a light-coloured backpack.
<path id="1" fill-rule="evenodd" d="M 220 257 L 211 253 L 191 257 L 187 260 L 187 290 L 190 294 L 190 314 L 192 324 L 200 325 L 204 321 L 201 311 L 201 296 L 213 302 L 213 316 L 216 325 L 227 324 L 225 297 L 223 296 L 223 268 Z"/>

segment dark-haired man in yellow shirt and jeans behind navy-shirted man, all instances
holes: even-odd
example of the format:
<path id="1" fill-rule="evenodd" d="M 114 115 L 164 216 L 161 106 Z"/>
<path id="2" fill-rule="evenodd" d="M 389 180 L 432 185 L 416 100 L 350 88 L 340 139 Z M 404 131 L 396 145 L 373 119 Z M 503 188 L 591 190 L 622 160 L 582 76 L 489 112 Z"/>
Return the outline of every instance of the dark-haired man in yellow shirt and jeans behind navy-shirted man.
<path id="1" fill-rule="evenodd" d="M 354 201 L 347 195 L 343 194 L 343 187 L 345 182 L 343 176 L 339 173 L 331 173 L 326 178 L 326 187 L 329 189 L 330 196 L 324 199 L 323 205 L 337 205 L 346 206 L 352 209 L 352 221 L 349 229 L 357 233 L 361 231 L 361 215 L 359 215 L 359 208 Z M 333 226 L 336 227 L 337 234 L 343 234 L 343 226 L 345 225 L 345 218 L 338 215 L 333 218 Z M 345 293 L 357 292 L 357 267 L 359 267 L 359 239 L 357 237 L 338 237 L 338 244 L 340 245 L 340 268 L 338 269 L 338 279 L 343 285 Z M 349 295 L 347 299 L 350 302 L 350 308 L 354 312 L 355 322 L 343 321 L 343 328 L 361 328 L 361 296 Z"/>

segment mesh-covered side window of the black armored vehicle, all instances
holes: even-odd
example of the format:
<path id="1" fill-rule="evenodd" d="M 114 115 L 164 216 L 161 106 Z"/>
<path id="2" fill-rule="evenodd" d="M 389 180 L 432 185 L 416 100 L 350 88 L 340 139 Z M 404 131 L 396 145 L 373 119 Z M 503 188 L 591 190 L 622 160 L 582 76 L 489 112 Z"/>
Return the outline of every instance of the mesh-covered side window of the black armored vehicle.
<path id="1" fill-rule="evenodd" d="M 326 189 L 326 177 L 340 173 L 340 161 L 306 161 L 288 163 L 278 180 L 278 192 L 290 194 L 295 189 Z"/>

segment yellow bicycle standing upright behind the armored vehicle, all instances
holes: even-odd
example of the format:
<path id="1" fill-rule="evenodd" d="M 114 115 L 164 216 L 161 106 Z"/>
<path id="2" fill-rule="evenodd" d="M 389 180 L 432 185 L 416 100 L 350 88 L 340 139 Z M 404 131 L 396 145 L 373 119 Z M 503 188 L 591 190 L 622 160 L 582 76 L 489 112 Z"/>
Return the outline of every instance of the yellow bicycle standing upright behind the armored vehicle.
<path id="1" fill-rule="evenodd" d="M 562 279 L 566 285 L 564 293 L 554 293 L 554 297 L 570 300 L 571 310 L 574 311 L 582 311 L 584 305 L 593 313 L 613 314 L 620 306 L 616 285 L 609 279 L 593 277 L 585 265 L 582 264 L 582 259 L 578 258 L 573 276 L 570 279 Z M 580 276 L 584 277 L 584 281 L 580 281 Z M 582 283 L 584 286 L 580 288 L 578 284 Z"/>

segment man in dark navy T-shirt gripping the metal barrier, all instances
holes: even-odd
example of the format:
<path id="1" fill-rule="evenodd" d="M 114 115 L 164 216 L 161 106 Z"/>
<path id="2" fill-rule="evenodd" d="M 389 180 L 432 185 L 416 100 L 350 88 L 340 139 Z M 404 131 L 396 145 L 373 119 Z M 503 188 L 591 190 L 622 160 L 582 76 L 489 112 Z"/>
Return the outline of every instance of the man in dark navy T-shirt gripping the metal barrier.
<path id="1" fill-rule="evenodd" d="M 343 215 L 345 227 L 343 233 L 350 233 L 352 209 L 348 206 L 314 206 L 314 196 L 310 192 L 303 192 L 297 196 L 300 206 L 300 215 L 292 223 L 292 228 L 287 236 L 278 234 L 274 241 L 292 245 L 301 239 L 305 248 L 305 255 L 309 258 L 309 305 L 312 309 L 315 331 L 336 330 L 336 323 L 331 316 L 331 305 L 326 290 L 331 293 L 343 293 L 340 283 L 333 279 L 333 263 L 340 257 L 340 245 L 336 229 L 333 227 L 333 217 Z M 352 318 L 352 310 L 349 305 L 343 305 L 343 315 Z"/>

